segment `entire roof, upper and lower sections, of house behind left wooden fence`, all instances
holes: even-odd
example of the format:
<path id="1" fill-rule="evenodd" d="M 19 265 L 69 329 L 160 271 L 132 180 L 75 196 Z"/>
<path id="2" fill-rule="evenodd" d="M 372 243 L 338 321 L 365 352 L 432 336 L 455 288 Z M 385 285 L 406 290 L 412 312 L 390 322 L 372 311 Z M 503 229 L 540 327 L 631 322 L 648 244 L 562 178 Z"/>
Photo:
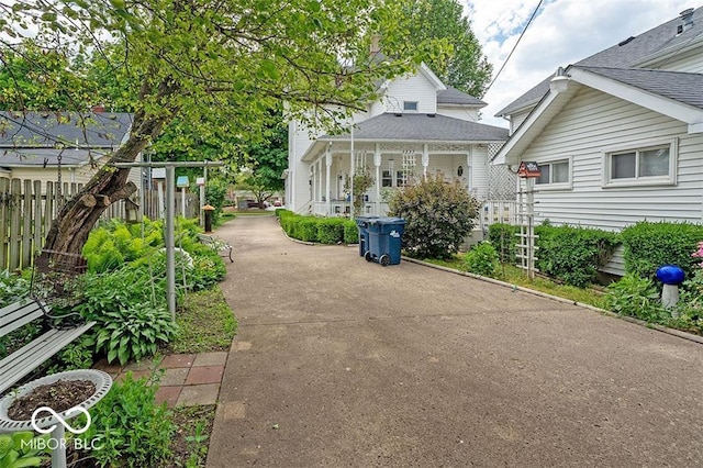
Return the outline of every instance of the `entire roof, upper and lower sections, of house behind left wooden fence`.
<path id="1" fill-rule="evenodd" d="M 0 112 L 0 166 L 78 167 L 118 148 L 129 113 Z"/>

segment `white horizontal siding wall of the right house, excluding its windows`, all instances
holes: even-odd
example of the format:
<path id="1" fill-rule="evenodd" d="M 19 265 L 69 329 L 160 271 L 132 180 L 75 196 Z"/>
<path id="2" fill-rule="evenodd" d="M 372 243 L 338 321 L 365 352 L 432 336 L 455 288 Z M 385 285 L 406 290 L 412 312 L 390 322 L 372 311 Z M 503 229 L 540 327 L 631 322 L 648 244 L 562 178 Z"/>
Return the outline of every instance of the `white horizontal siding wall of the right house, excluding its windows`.
<path id="1" fill-rule="evenodd" d="M 538 220 L 618 231 L 640 220 L 702 221 L 703 135 L 677 120 L 591 89 L 580 91 L 522 155 L 537 163 L 571 156 L 570 191 L 539 191 Z M 612 147 L 678 138 L 676 186 L 602 187 Z"/>

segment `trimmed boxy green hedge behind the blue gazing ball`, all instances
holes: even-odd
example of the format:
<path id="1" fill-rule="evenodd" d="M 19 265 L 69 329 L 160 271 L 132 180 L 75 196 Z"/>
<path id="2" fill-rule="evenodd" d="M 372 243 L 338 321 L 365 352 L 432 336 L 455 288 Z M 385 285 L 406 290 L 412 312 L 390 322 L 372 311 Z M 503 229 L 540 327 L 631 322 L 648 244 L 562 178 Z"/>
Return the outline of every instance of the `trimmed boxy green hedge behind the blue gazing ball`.
<path id="1" fill-rule="evenodd" d="M 624 229 L 622 236 L 627 272 L 654 279 L 660 266 L 678 265 L 691 277 L 700 261 L 691 254 L 703 241 L 703 225 L 641 221 Z"/>

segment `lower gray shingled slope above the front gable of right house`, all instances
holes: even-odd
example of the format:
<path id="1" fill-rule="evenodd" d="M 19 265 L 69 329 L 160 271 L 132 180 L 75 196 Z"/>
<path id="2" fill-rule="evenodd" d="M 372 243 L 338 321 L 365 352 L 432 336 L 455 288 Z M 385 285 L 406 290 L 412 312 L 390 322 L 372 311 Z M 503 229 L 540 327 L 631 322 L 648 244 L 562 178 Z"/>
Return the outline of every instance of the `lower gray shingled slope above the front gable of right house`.
<path id="1" fill-rule="evenodd" d="M 703 75 L 640 68 L 574 67 L 703 109 Z"/>

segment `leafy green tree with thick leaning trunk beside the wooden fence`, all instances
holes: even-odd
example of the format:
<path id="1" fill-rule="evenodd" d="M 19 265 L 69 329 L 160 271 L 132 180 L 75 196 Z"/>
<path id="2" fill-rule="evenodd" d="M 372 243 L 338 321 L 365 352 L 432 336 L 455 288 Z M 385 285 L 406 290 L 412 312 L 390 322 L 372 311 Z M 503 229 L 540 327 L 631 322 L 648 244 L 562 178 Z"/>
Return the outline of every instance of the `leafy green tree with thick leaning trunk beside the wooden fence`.
<path id="1" fill-rule="evenodd" d="M 175 119 L 256 141 L 269 110 L 334 125 L 372 98 L 376 83 L 412 69 L 432 42 L 405 41 L 414 0 L 0 0 L 0 41 L 38 30 L 45 46 L 94 53 L 105 70 L 138 83 L 129 141 L 62 209 L 46 248 L 80 252 L 111 203 L 136 190 L 131 163 Z M 383 31 L 384 60 L 358 60 L 368 35 Z M 119 62 L 105 53 L 118 47 Z M 126 97 L 130 98 L 129 96 Z"/>

